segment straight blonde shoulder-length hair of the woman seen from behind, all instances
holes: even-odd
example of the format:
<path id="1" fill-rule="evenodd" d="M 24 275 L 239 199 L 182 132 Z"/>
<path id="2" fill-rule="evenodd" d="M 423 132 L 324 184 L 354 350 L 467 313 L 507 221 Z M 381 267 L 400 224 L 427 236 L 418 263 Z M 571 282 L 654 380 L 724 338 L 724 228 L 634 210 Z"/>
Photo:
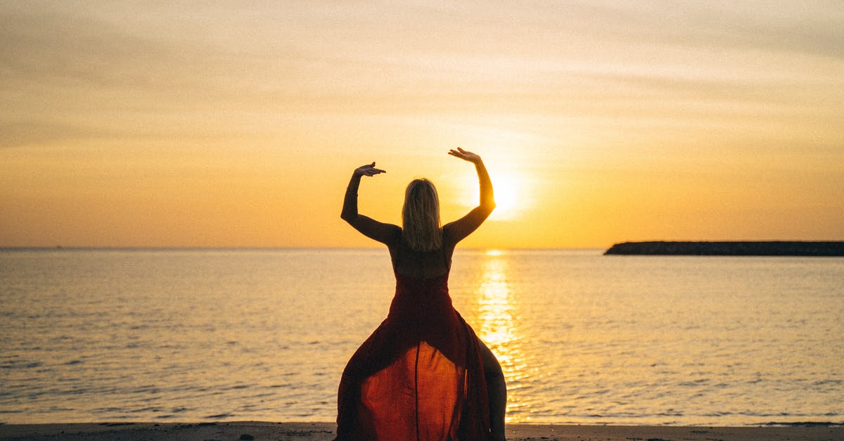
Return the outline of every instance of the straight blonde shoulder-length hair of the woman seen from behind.
<path id="1" fill-rule="evenodd" d="M 440 198 L 434 182 L 414 179 L 404 191 L 402 237 L 416 251 L 442 248 Z"/>

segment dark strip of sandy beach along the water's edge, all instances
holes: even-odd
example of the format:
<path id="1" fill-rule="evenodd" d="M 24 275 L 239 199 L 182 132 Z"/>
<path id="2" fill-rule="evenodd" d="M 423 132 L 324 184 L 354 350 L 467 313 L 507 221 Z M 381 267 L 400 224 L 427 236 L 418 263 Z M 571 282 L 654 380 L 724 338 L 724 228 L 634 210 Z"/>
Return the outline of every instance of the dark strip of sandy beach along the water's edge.
<path id="1" fill-rule="evenodd" d="M 0 425 L 0 439 L 160 440 L 295 440 L 325 441 L 333 438 L 331 422 L 103 422 L 81 424 Z M 733 441 L 733 440 L 834 440 L 844 439 L 844 427 L 825 425 L 787 427 L 653 427 L 566 426 L 512 424 L 511 441 L 528 440 L 631 440 L 631 441 Z"/>

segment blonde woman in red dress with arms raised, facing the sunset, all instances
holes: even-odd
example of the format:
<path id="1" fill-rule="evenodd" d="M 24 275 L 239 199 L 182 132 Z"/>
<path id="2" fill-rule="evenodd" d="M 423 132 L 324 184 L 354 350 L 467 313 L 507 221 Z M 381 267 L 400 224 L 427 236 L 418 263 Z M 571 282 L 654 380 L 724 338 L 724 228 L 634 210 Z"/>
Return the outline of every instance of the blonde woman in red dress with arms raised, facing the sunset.
<path id="1" fill-rule="evenodd" d="M 457 242 L 495 208 L 492 182 L 479 155 L 449 155 L 472 162 L 480 203 L 468 215 L 440 226 L 436 188 L 410 182 L 403 227 L 358 214 L 360 178 L 385 171 L 375 162 L 352 174 L 341 217 L 387 245 L 396 293 L 387 319 L 349 360 L 338 392 L 338 440 L 505 439 L 506 386 L 501 367 L 448 295 Z"/>

